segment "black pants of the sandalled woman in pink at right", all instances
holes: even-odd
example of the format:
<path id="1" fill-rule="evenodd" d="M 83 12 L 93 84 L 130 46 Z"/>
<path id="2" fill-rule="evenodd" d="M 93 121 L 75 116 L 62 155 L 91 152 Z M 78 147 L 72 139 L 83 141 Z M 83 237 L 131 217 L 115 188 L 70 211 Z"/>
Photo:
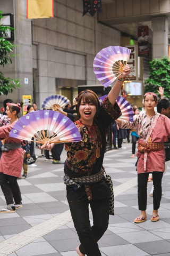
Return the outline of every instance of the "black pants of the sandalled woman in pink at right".
<path id="1" fill-rule="evenodd" d="M 147 209 L 147 184 L 149 173 L 138 174 L 138 205 L 139 210 L 145 211 Z M 163 172 L 152 172 L 152 180 L 154 185 L 153 203 L 154 210 L 158 210 L 160 200 L 162 198 L 162 178 Z"/>

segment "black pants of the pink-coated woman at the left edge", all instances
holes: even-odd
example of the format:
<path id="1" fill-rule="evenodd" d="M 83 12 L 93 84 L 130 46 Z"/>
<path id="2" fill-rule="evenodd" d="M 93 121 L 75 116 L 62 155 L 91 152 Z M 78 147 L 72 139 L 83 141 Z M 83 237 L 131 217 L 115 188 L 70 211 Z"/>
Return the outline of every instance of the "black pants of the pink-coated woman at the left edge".
<path id="1" fill-rule="evenodd" d="M 0 172 L 0 185 L 5 196 L 6 204 L 20 204 L 22 201 L 21 191 L 17 177 Z"/>

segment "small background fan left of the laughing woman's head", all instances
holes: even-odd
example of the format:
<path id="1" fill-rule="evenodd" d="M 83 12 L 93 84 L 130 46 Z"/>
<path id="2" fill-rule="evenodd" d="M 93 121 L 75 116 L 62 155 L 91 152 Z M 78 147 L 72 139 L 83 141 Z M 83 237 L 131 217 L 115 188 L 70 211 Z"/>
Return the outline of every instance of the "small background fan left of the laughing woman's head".
<path id="1" fill-rule="evenodd" d="M 55 110 L 55 108 L 64 108 L 69 102 L 65 96 L 56 94 L 46 98 L 41 107 Z"/>

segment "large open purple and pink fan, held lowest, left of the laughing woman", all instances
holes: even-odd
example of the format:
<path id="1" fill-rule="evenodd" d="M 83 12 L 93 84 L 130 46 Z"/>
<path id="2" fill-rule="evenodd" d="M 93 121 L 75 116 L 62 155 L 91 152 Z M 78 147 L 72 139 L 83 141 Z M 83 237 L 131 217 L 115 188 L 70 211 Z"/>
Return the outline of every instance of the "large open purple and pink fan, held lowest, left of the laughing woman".
<path id="1" fill-rule="evenodd" d="M 52 110 L 37 110 L 22 116 L 14 124 L 10 137 L 28 141 L 34 137 L 42 144 L 47 140 L 55 144 L 81 141 L 79 130 L 71 119 Z"/>

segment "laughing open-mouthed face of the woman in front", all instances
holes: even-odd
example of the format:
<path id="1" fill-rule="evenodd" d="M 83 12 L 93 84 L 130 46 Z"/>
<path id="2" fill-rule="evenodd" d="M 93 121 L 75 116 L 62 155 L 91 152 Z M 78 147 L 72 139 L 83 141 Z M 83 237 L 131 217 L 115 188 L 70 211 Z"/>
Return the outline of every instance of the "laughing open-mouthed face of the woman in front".
<path id="1" fill-rule="evenodd" d="M 96 106 L 94 103 L 87 103 L 82 99 L 79 107 L 79 113 L 83 124 L 92 125 L 96 114 Z"/>

